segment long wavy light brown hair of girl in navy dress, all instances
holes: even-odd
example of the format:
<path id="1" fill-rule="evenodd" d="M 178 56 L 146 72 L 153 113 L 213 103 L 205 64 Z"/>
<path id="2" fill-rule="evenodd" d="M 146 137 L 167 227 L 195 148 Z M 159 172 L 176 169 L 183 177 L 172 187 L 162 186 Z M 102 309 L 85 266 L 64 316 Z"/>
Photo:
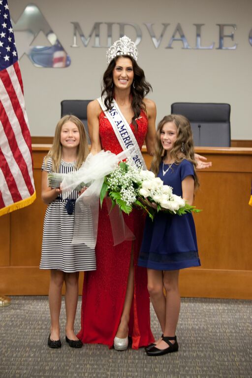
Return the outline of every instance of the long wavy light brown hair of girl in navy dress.
<path id="1" fill-rule="evenodd" d="M 170 114 L 165 116 L 158 124 L 156 133 L 155 153 L 151 164 L 151 170 L 158 175 L 159 165 L 166 152 L 160 141 L 160 132 L 167 122 L 173 122 L 178 130 L 178 137 L 174 142 L 173 149 L 170 151 L 170 157 L 175 163 L 180 163 L 183 159 L 187 159 L 193 163 L 194 167 L 194 189 L 199 187 L 199 179 L 196 173 L 196 161 L 194 159 L 194 147 L 192 132 L 189 120 L 179 114 Z"/>

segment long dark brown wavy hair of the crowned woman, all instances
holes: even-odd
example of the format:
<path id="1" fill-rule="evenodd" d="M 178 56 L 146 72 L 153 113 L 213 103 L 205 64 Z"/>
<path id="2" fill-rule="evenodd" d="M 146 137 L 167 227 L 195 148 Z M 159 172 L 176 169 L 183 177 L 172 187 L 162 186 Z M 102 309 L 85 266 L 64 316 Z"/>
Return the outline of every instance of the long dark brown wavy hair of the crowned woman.
<path id="1" fill-rule="evenodd" d="M 114 99 L 113 70 L 119 58 L 128 58 L 132 62 L 134 72 L 134 80 L 130 87 L 130 95 L 132 97 L 131 106 L 134 112 L 134 116 L 132 117 L 132 124 L 134 126 L 137 126 L 135 119 L 140 116 L 141 110 L 146 111 L 146 106 L 143 99 L 150 91 L 152 91 L 152 86 L 145 80 L 143 69 L 139 67 L 139 65 L 132 57 L 130 57 L 129 55 L 119 55 L 112 59 L 103 75 L 101 96 L 105 97 L 105 106 L 107 110 L 110 110 L 112 108 L 111 103 Z"/>

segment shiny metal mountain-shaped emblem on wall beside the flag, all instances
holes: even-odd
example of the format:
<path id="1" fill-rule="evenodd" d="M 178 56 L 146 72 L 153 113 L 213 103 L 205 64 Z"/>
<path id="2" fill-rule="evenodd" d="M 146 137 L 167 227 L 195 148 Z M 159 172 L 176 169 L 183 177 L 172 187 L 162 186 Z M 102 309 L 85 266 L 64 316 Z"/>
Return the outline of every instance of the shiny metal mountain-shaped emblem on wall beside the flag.
<path id="1" fill-rule="evenodd" d="M 16 24 L 12 20 L 19 59 L 26 54 L 36 67 L 64 68 L 71 63 L 57 35 L 34 4 L 29 4 Z M 48 46 L 33 46 L 39 32 L 48 39 Z"/>

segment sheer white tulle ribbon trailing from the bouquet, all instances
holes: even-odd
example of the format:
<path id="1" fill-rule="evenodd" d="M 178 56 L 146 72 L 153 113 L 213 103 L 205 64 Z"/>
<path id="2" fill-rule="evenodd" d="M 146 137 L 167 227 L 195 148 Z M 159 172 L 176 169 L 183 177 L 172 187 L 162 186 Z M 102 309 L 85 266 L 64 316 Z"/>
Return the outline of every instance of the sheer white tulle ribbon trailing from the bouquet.
<path id="1" fill-rule="evenodd" d="M 75 203 L 72 244 L 85 244 L 91 249 L 95 248 L 100 190 L 104 177 L 115 169 L 119 161 L 128 157 L 127 151 L 123 151 L 118 155 L 103 150 L 96 155 L 90 153 L 78 172 L 67 175 L 63 179 L 61 184 L 63 199 L 67 198 L 71 191 L 80 183 L 88 185 L 88 188 L 79 196 Z M 109 201 L 106 202 L 109 205 Z M 119 210 L 112 210 L 110 221 L 114 245 L 122 243 L 124 240 L 134 239 L 133 233 L 126 226 L 123 215 Z"/>

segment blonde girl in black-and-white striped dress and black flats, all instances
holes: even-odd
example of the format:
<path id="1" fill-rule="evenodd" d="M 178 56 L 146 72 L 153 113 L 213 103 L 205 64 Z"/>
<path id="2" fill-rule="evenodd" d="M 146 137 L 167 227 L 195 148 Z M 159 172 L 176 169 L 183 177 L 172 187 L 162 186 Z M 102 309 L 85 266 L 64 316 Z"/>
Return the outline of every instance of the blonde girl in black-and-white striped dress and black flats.
<path id="1" fill-rule="evenodd" d="M 70 173 L 78 170 L 89 154 L 87 135 L 82 122 L 75 116 L 64 116 L 56 126 L 52 148 L 42 164 L 42 200 L 48 205 L 43 228 L 40 269 L 50 269 L 49 307 L 51 332 L 48 346 L 61 347 L 60 310 L 62 286 L 65 283 L 65 340 L 70 347 L 82 347 L 74 333 L 74 319 L 78 301 L 79 271 L 96 269 L 95 250 L 85 244 L 72 245 L 74 190 L 63 200 L 60 188 L 47 185 L 49 172 Z M 85 221 L 88 220 L 83 220 Z"/>

